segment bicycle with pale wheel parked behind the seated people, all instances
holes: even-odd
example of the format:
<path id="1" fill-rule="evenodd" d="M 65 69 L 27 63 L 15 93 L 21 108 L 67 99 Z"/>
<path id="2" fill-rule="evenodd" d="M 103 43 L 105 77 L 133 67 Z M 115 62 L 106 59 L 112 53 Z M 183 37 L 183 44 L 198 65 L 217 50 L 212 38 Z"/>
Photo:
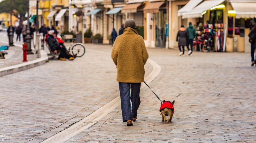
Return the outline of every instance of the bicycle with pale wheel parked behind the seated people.
<path id="1" fill-rule="evenodd" d="M 85 54 L 85 47 L 82 43 L 74 43 L 74 40 L 76 40 L 76 38 L 72 38 L 71 44 L 69 46 L 69 48 L 67 48 L 66 46 L 64 46 L 67 51 L 70 53 L 72 53 L 73 55 L 77 54 L 76 57 L 81 57 Z M 53 52 L 50 47 L 50 54 L 53 55 L 54 57 L 58 58 L 60 51 L 57 52 Z"/>

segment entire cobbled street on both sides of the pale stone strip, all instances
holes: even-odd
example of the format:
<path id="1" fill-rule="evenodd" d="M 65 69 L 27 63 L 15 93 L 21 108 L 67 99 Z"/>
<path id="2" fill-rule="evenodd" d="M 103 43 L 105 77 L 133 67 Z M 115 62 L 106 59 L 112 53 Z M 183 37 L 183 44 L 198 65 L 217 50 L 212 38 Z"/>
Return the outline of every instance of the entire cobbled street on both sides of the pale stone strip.
<path id="1" fill-rule="evenodd" d="M 0 142 L 41 142 L 119 94 L 111 46 L 85 46 L 74 61 L 50 60 L 0 77 Z M 119 106 L 66 143 L 256 142 L 256 67 L 249 53 L 148 52 L 162 68 L 149 86 L 161 100 L 175 100 L 173 120 L 161 122 L 160 102 L 145 87 L 134 126 L 122 122 Z M 148 62 L 145 70 L 145 76 L 152 70 Z"/>

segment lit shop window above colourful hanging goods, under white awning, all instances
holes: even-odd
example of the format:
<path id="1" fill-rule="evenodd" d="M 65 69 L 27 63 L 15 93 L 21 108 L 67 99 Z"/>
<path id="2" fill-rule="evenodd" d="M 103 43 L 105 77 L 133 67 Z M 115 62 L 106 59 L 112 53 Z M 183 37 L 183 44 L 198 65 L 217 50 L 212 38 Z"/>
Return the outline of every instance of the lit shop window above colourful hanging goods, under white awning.
<path id="1" fill-rule="evenodd" d="M 215 29 L 215 23 L 223 23 L 223 10 L 211 10 L 210 11 L 210 23 L 213 24 L 213 29 Z"/>

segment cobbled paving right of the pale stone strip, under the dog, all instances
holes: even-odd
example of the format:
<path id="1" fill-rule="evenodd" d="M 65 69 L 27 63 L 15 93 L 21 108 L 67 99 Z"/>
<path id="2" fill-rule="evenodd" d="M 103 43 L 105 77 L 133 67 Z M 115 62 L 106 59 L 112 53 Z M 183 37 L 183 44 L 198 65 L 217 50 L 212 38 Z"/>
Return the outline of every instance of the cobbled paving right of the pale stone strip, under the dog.
<path id="1" fill-rule="evenodd" d="M 172 122 L 161 122 L 160 102 L 144 88 L 134 126 L 122 123 L 118 107 L 66 143 L 256 142 L 256 67 L 249 53 L 180 57 L 177 50 L 148 51 L 162 67 L 152 90 L 162 100 L 175 100 Z"/>

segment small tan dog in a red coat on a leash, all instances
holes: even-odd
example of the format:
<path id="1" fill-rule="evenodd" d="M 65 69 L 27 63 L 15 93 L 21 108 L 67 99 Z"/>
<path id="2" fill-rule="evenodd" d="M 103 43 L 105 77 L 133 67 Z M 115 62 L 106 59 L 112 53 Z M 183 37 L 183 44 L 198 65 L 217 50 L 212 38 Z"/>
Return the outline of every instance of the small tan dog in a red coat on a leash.
<path id="1" fill-rule="evenodd" d="M 162 115 L 162 122 L 166 121 L 166 123 L 170 123 L 170 121 L 172 121 L 173 118 L 173 113 L 174 113 L 174 102 L 171 101 L 163 101 L 163 104 L 160 107 L 160 112 Z M 166 116 L 168 116 L 168 120 L 166 120 Z"/>

